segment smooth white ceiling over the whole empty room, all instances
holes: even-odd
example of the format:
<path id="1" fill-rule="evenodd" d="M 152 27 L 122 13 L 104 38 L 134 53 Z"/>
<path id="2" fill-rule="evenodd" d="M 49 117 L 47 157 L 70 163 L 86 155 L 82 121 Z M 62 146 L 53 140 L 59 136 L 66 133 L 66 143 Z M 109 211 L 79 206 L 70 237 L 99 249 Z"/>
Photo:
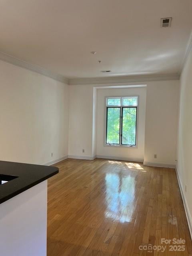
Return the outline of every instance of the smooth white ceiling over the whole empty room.
<path id="1" fill-rule="evenodd" d="M 67 78 L 178 73 L 191 29 L 192 0 L 0 1 L 0 51 Z"/>

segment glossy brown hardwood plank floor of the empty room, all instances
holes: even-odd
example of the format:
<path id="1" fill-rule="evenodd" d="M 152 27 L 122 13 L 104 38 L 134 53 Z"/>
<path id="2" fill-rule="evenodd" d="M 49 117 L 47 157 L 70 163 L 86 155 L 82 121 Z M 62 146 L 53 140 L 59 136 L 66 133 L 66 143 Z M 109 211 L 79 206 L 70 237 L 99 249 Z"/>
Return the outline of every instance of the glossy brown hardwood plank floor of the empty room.
<path id="1" fill-rule="evenodd" d="M 104 159 L 55 166 L 60 172 L 48 180 L 48 256 L 192 255 L 174 169 Z M 169 244 L 164 252 L 146 250 L 165 246 L 161 238 L 182 238 L 185 250 L 169 251 Z"/>

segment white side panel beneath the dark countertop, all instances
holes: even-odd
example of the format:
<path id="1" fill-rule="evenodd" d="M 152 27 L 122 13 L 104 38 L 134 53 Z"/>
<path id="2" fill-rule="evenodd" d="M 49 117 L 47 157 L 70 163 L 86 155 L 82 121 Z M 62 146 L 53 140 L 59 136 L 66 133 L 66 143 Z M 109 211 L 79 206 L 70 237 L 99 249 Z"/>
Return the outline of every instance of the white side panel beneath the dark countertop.
<path id="1" fill-rule="evenodd" d="M 0 255 L 46 256 L 46 244 L 47 180 L 0 204 Z"/>

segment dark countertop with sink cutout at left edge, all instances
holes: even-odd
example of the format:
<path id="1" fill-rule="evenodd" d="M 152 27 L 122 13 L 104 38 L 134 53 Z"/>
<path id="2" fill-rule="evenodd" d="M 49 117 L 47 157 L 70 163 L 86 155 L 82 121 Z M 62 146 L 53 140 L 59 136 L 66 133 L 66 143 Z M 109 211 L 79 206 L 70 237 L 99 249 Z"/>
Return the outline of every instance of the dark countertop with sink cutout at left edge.
<path id="1" fill-rule="evenodd" d="M 10 177 L 12 180 L 0 184 L 0 204 L 47 180 L 58 172 L 59 169 L 53 166 L 0 161 L 0 177 L 2 175 L 6 180 L 8 177 L 6 175 L 17 176 L 14 179 Z M 4 180 L 4 178 L 1 179 Z"/>

